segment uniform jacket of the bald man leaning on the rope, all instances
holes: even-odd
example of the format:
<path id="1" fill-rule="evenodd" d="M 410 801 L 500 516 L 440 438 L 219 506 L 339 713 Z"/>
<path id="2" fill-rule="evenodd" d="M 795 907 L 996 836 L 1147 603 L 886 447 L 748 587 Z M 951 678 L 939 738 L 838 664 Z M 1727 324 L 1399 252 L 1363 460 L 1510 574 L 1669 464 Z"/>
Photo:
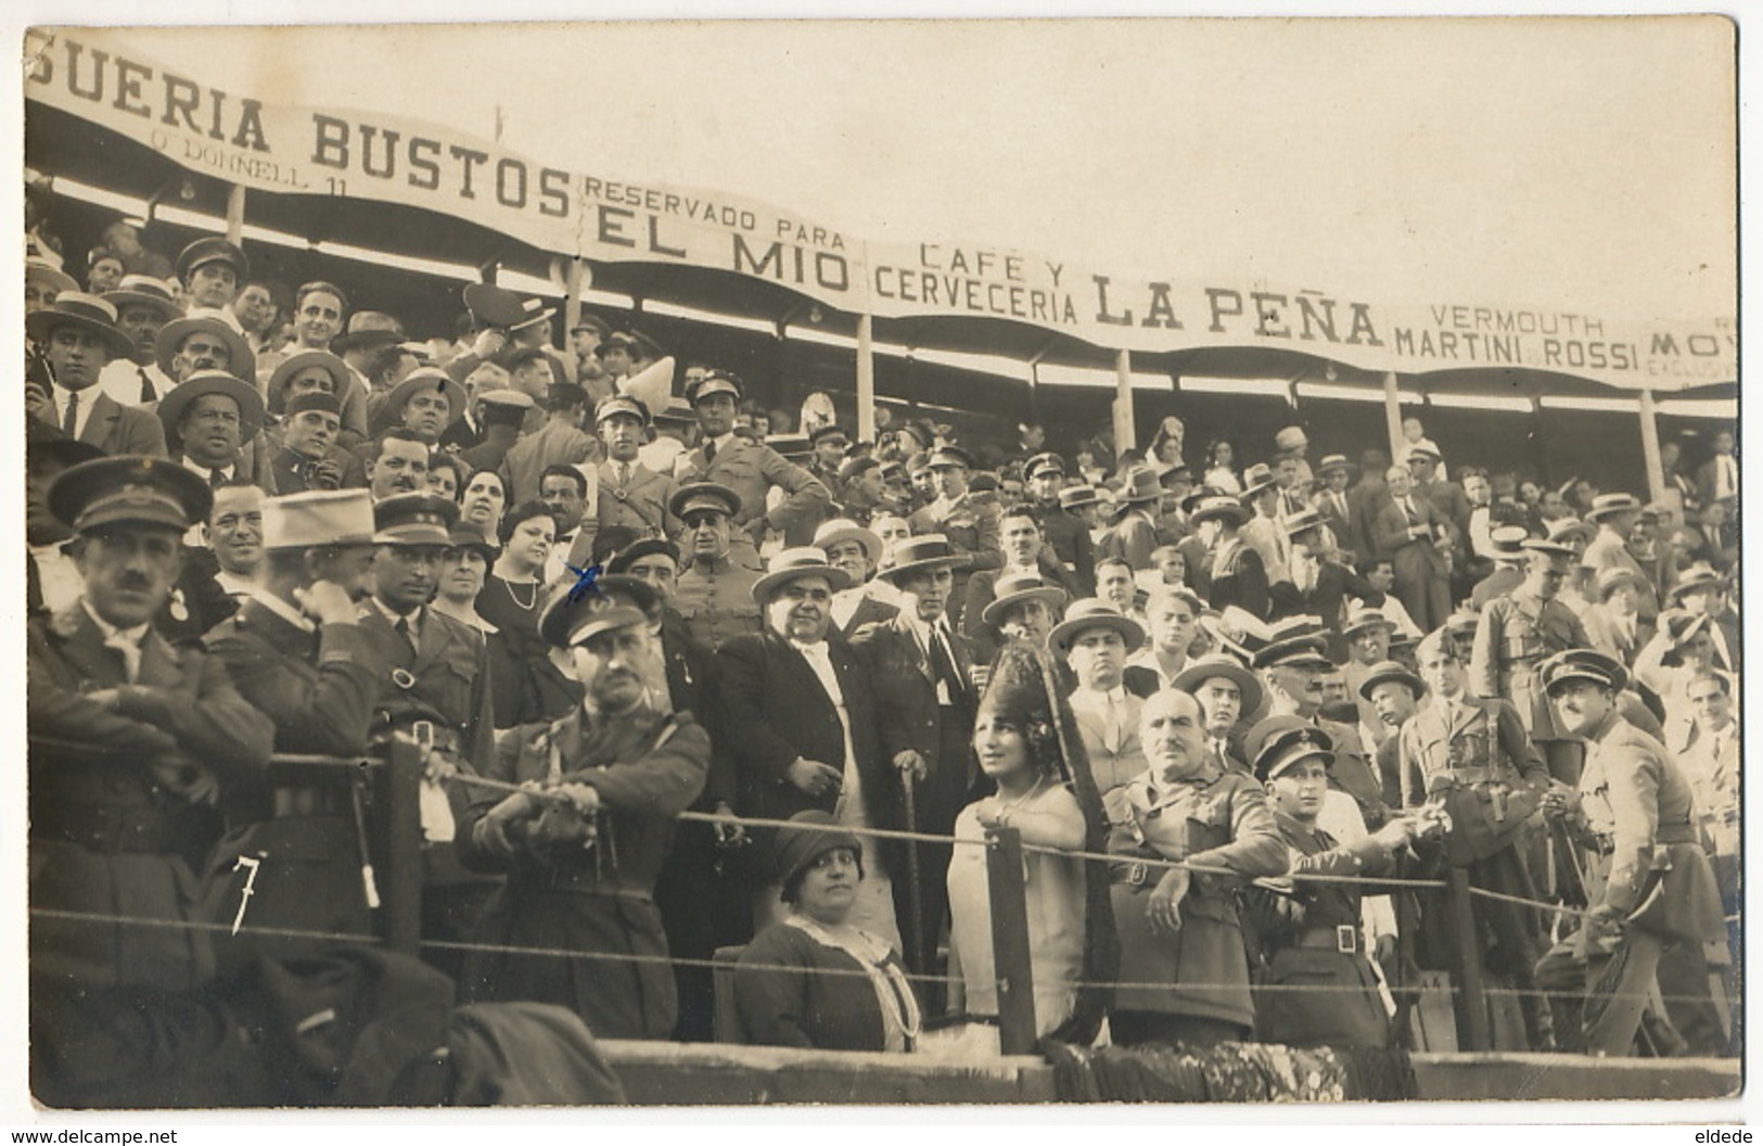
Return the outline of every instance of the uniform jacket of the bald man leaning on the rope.
<path id="1" fill-rule="evenodd" d="M 1153 785 L 1149 772 L 1102 797 L 1121 986 L 1114 1010 L 1218 1019 L 1250 1028 L 1248 952 L 1238 917 L 1238 889 L 1285 874 L 1287 852 L 1266 790 L 1253 778 L 1206 765 L 1199 776 Z M 1176 934 L 1151 931 L 1146 903 L 1164 867 L 1146 859 L 1190 860 L 1231 874 L 1195 871 L 1181 901 Z"/>

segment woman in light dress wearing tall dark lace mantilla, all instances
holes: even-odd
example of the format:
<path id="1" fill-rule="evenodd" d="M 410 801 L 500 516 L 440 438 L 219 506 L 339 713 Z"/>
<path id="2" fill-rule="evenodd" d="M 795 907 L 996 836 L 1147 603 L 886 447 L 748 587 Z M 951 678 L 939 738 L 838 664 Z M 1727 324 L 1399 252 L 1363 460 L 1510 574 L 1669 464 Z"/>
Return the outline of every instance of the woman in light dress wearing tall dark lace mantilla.
<path id="1" fill-rule="evenodd" d="M 973 751 L 998 792 L 956 820 L 948 864 L 950 1010 L 968 1026 L 934 1037 L 936 1053 L 998 1053 L 998 975 L 993 964 L 986 834 L 1021 832 L 1035 1033 L 1063 1042 L 1095 1038 L 1118 961 L 1107 867 L 1031 848 L 1100 852 L 1107 818 L 1090 776 L 1053 659 L 1028 644 L 1007 645 L 973 723 Z M 927 1046 L 927 1049 L 931 1049 Z"/>

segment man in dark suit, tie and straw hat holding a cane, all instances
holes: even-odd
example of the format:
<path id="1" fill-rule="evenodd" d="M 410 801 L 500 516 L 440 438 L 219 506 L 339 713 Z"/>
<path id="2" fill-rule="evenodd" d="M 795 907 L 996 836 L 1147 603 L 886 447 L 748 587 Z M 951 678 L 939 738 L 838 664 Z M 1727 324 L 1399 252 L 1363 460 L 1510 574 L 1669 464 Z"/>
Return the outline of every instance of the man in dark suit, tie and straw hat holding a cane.
<path id="1" fill-rule="evenodd" d="M 882 756 L 899 772 L 899 783 L 915 790 L 913 830 L 933 836 L 954 832 L 956 816 L 975 797 L 978 779 L 971 749 L 978 703 L 973 647 L 950 631 L 947 619 L 954 569 L 963 561 L 948 540 L 934 532 L 896 548 L 894 566 L 883 577 L 899 589 L 901 610 L 852 638 L 873 673 Z M 948 910 L 945 882 L 952 850 L 947 845 L 911 846 L 919 848 L 917 920 L 910 919 L 911 897 L 904 882 L 894 887 L 894 903 L 906 922 L 906 964 L 929 973 Z"/>

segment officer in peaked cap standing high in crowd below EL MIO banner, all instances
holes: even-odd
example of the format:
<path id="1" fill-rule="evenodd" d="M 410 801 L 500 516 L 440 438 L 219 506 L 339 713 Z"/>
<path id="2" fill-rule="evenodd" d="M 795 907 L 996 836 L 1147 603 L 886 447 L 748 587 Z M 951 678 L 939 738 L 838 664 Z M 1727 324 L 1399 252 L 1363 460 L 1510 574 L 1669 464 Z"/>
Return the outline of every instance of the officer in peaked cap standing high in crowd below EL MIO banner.
<path id="1" fill-rule="evenodd" d="M 758 547 L 772 532 L 783 534 L 785 545 L 809 545 L 832 492 L 765 443 L 735 434 L 740 379 L 726 370 L 710 370 L 688 386 L 686 397 L 698 413 L 702 434 L 698 448 L 679 460 L 673 476 L 681 485 L 710 481 L 735 492 L 733 561 L 760 569 Z M 785 492 L 785 499 L 767 510 L 767 494 L 774 487 Z"/>

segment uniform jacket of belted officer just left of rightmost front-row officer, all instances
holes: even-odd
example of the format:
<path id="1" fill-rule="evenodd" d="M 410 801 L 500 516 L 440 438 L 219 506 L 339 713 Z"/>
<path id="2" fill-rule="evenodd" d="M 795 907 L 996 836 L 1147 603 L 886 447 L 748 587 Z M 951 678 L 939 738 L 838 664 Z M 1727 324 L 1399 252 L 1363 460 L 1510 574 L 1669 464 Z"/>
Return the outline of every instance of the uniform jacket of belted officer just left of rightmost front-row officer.
<path id="1" fill-rule="evenodd" d="M 1511 846 L 1548 786 L 1543 755 L 1506 700 L 1426 703 L 1396 744 L 1403 807 L 1442 800 L 1451 816 L 1446 857 L 1458 866 Z"/>

